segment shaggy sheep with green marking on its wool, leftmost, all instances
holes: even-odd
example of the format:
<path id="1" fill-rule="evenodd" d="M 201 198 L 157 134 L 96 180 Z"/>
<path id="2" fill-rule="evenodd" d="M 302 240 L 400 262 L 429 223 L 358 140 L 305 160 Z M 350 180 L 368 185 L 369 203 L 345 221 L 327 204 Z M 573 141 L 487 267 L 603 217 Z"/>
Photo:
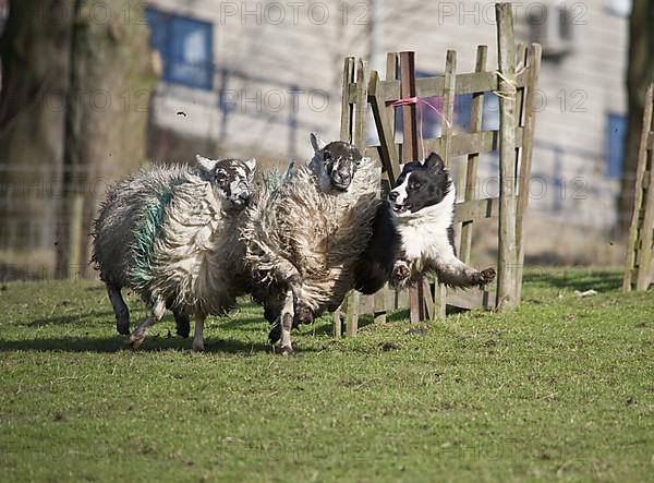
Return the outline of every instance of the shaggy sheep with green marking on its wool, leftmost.
<path id="1" fill-rule="evenodd" d="M 246 291 L 238 226 L 256 160 L 196 159 L 197 168 L 154 167 L 117 183 L 95 221 L 92 259 L 118 331 L 130 334 L 123 287 L 140 293 L 152 311 L 130 335 L 133 348 L 169 307 L 180 335 L 189 335 L 189 316 L 195 316 L 193 349 L 203 350 L 205 317 L 225 313 Z"/>

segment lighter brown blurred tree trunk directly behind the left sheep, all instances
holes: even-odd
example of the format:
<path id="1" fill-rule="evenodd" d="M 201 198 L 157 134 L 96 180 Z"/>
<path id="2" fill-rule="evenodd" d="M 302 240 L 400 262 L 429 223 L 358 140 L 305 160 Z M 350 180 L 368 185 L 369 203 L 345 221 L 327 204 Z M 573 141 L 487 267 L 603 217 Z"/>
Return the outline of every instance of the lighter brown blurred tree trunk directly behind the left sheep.
<path id="1" fill-rule="evenodd" d="M 75 0 L 57 274 L 88 273 L 89 233 L 109 183 L 145 160 L 157 80 L 141 0 Z"/>

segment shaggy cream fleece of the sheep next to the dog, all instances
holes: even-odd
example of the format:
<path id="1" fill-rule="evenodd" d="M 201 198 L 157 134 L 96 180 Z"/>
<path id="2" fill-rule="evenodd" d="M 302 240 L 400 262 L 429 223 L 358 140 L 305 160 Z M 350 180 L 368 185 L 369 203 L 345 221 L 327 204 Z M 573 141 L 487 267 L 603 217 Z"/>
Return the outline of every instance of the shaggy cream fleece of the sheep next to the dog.
<path id="1" fill-rule="evenodd" d="M 241 234 L 246 266 L 265 292 L 259 299 L 283 299 L 299 276 L 301 302 L 314 316 L 336 310 L 354 287 L 355 264 L 372 237 L 380 169 L 364 158 L 347 192 L 320 192 L 305 168 L 265 180 Z"/>

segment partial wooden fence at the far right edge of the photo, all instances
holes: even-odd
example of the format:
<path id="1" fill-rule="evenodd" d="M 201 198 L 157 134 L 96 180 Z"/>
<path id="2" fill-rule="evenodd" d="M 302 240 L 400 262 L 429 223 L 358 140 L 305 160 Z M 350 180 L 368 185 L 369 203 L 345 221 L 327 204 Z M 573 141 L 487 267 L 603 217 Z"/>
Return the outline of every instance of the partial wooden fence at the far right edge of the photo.
<path id="1" fill-rule="evenodd" d="M 635 188 L 633 193 L 633 212 L 627 245 L 627 266 L 622 290 L 646 290 L 654 280 L 654 84 L 645 94 L 643 111 L 643 129 L 638 150 L 638 167 L 635 170 Z"/>

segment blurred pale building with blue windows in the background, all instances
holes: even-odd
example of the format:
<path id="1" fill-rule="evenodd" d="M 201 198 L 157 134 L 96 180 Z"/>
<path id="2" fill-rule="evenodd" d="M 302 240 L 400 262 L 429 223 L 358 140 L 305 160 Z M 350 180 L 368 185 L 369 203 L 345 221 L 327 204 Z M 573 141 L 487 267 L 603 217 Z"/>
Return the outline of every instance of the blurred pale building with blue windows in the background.
<path id="1" fill-rule="evenodd" d="M 629 10 L 625 0 L 516 2 L 519 39 L 544 48 L 533 210 L 593 228 L 615 222 Z M 165 75 L 150 154 L 187 156 L 175 146 L 193 138 L 230 154 L 306 157 L 308 131 L 338 134 L 344 56 L 383 69 L 386 51 L 415 50 L 427 75 L 455 49 L 458 71 L 472 71 L 477 44 L 496 62 L 494 15 L 493 2 L 472 1 L 152 1 Z M 464 124 L 464 99 L 458 104 Z M 496 105 L 487 99 L 489 124 Z"/>

